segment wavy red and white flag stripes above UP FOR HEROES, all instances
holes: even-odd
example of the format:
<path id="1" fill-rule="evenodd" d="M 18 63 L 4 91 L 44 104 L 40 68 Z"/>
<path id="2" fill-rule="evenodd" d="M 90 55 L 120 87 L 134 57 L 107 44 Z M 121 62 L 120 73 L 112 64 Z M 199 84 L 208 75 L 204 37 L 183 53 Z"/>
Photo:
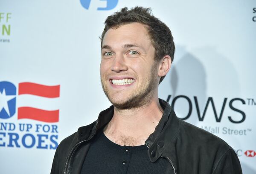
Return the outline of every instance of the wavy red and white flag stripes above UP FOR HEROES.
<path id="1" fill-rule="evenodd" d="M 18 119 L 26 118 L 47 123 L 59 121 L 58 109 L 48 110 L 43 107 L 47 106 L 51 108 L 51 106 L 55 106 L 49 103 L 54 103 L 53 100 L 60 97 L 60 85 L 46 86 L 37 83 L 23 82 L 19 83 L 18 95 Z"/>

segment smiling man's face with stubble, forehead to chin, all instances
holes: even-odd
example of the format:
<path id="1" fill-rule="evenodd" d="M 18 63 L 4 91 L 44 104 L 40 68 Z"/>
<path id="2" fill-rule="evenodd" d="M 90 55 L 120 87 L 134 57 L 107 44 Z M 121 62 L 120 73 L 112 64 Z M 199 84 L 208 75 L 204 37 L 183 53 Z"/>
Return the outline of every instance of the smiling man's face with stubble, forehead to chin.
<path id="1" fill-rule="evenodd" d="M 102 41 L 102 88 L 118 109 L 148 104 L 157 91 L 158 64 L 145 26 L 129 23 L 109 29 Z"/>

